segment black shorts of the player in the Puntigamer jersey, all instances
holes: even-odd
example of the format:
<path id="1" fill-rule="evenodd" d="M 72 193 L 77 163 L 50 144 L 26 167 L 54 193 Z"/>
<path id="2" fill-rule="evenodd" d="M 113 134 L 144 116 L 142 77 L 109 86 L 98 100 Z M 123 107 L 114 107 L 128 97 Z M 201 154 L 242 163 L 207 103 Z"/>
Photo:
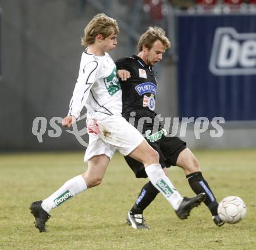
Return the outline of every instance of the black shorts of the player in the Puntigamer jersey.
<path id="1" fill-rule="evenodd" d="M 145 139 L 147 140 L 147 138 Z M 162 135 L 162 138 L 157 142 L 148 141 L 148 143 L 159 153 L 159 163 L 162 168 L 176 166 L 180 152 L 186 148 L 186 142 L 180 140 L 179 137 L 165 137 L 165 135 Z M 125 156 L 125 160 L 137 178 L 148 177 L 143 163 L 130 156 Z"/>

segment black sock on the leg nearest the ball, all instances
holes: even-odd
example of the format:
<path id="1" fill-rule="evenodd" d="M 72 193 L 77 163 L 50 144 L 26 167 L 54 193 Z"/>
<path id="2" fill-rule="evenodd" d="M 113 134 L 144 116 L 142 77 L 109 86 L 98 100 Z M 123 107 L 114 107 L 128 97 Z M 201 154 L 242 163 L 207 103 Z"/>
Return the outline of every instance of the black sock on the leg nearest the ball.
<path id="1" fill-rule="evenodd" d="M 212 215 L 218 215 L 218 202 L 214 197 L 214 193 L 211 191 L 207 181 L 205 181 L 204 177 L 202 177 L 201 172 L 195 172 L 187 175 L 187 180 L 189 181 L 189 185 L 195 194 L 200 194 L 200 192 L 205 192 L 207 194 L 207 198 L 204 203 L 208 206 Z"/>

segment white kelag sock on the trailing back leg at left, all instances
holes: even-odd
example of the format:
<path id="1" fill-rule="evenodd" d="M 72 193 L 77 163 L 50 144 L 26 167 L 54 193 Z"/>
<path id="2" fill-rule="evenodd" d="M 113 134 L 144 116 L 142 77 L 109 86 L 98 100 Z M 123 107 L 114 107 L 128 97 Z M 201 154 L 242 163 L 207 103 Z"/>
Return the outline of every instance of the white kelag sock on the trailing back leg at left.
<path id="1" fill-rule="evenodd" d="M 42 208 L 49 213 L 52 208 L 56 208 L 56 206 L 61 205 L 61 203 L 65 202 L 67 199 L 74 197 L 74 195 L 84 190 L 87 190 L 87 185 L 83 176 L 76 176 L 66 181 L 54 194 L 42 201 Z"/>

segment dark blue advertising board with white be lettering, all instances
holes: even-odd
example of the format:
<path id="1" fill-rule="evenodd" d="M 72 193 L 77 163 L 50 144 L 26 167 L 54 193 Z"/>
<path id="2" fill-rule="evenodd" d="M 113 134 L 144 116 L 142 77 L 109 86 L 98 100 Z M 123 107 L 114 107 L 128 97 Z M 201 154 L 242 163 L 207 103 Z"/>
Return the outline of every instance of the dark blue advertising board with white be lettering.
<path id="1" fill-rule="evenodd" d="M 256 16 L 177 16 L 179 116 L 256 120 Z"/>

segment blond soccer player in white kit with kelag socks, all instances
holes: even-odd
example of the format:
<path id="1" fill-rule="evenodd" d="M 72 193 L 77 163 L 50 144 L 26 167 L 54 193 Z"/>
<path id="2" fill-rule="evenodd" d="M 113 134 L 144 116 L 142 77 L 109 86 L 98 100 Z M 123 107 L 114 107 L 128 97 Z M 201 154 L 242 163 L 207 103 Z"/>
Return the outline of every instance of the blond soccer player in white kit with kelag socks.
<path id="1" fill-rule="evenodd" d="M 40 232 L 46 231 L 45 223 L 51 209 L 101 183 L 116 149 L 144 164 L 151 183 L 168 200 L 180 219 L 187 219 L 190 210 L 205 199 L 205 193 L 183 199 L 159 165 L 157 151 L 122 117 L 122 91 L 118 77 L 126 80 L 130 73 L 126 70 L 116 72 L 115 63 L 107 53 L 116 47 L 118 33 L 116 20 L 103 13 L 96 15 L 84 29 L 81 45 L 87 48 L 81 56 L 79 77 L 69 113 L 63 118 L 62 125 L 72 126 L 86 106 L 89 145 L 84 160 L 88 167 L 84 174 L 66 181 L 44 201 L 30 205 L 35 227 Z"/>

